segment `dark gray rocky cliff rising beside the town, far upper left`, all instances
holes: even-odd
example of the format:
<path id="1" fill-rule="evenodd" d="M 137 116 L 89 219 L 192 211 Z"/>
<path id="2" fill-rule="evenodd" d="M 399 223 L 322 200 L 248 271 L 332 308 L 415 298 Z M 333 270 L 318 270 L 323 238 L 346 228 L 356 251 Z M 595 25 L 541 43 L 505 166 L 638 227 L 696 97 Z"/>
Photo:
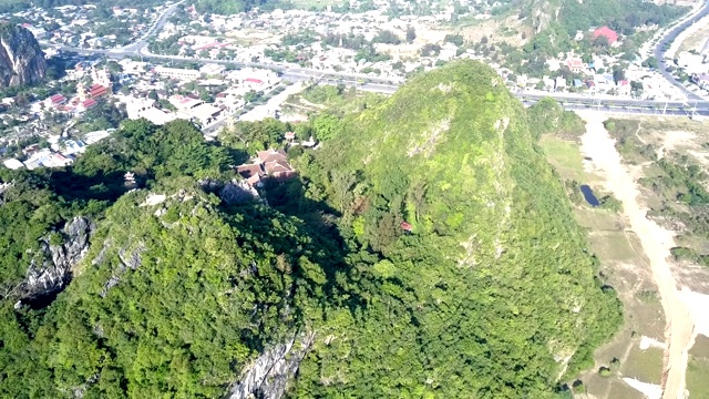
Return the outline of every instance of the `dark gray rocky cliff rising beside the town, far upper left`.
<path id="1" fill-rule="evenodd" d="M 34 84 L 47 75 L 47 60 L 32 32 L 0 24 L 0 88 Z"/>

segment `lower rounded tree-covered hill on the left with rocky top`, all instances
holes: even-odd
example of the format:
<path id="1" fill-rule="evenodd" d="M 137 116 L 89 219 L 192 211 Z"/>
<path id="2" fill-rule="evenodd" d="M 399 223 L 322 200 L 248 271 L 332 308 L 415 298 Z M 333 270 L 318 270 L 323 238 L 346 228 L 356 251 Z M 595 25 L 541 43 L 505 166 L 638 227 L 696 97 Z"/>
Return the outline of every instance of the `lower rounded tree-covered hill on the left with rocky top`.
<path id="1" fill-rule="evenodd" d="M 298 270 L 323 274 L 309 238 L 267 208 L 226 214 L 179 185 L 110 208 L 41 326 L 23 323 L 27 309 L 6 318 L 2 392 L 217 398 L 250 359 L 292 337 L 311 297 Z"/>

